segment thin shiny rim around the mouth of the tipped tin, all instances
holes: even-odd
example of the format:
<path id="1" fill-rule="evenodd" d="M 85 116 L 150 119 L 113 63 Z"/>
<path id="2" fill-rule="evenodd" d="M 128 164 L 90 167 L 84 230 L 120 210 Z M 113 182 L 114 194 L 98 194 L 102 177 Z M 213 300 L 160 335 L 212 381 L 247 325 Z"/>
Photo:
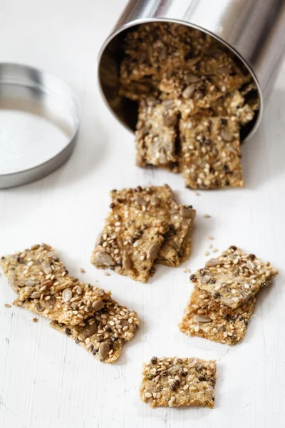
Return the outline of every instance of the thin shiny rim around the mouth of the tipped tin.
<path id="1" fill-rule="evenodd" d="M 202 31 L 203 33 L 209 34 L 209 36 L 212 36 L 212 37 L 214 37 L 214 39 L 216 39 L 219 42 L 221 42 L 224 46 L 227 47 L 227 49 L 229 49 L 230 51 L 232 51 L 232 53 L 235 56 L 237 56 L 237 58 L 239 58 L 240 61 L 242 61 L 242 63 L 244 64 L 244 66 L 247 67 L 249 73 L 252 75 L 252 78 L 254 79 L 254 83 L 257 85 L 257 91 L 258 91 L 258 94 L 259 94 L 259 111 L 258 111 L 258 114 L 257 114 L 257 118 L 255 119 L 254 126 L 252 126 L 252 129 L 249 131 L 249 133 L 247 134 L 247 136 L 244 138 L 244 141 L 246 141 L 248 138 L 252 137 L 254 135 L 254 133 L 257 131 L 257 128 L 259 127 L 259 124 L 261 122 L 261 117 L 262 117 L 263 111 L 264 111 L 264 99 L 263 99 L 263 96 L 262 96 L 261 87 L 260 87 L 258 78 L 257 78 L 256 74 L 254 73 L 254 70 L 252 69 L 252 66 L 250 66 L 249 63 L 247 63 L 247 61 L 242 57 L 242 55 L 239 54 L 239 52 L 236 49 L 234 49 L 226 41 L 224 41 L 223 39 L 221 39 L 221 37 L 217 36 L 217 34 L 214 34 L 214 33 L 212 33 L 212 31 L 204 29 L 201 26 L 198 26 L 196 24 L 192 24 L 192 23 L 187 22 L 187 21 L 183 21 L 181 19 L 170 19 L 170 18 L 135 19 L 135 21 L 131 21 L 128 24 L 123 25 L 117 31 L 114 31 L 112 34 L 110 34 L 110 36 L 108 36 L 108 38 L 103 43 L 103 46 L 101 47 L 100 52 L 99 52 L 99 56 L 98 56 L 98 66 L 97 66 L 98 85 L 99 85 L 99 90 L 100 90 L 101 96 L 103 97 L 103 100 L 105 101 L 105 104 L 108 106 L 109 111 L 111 113 L 113 113 L 113 115 L 115 116 L 115 118 L 117 118 L 118 121 L 120 123 L 122 123 L 122 125 L 128 131 L 130 131 L 131 133 L 133 133 L 133 130 L 120 118 L 120 116 L 118 116 L 118 114 L 115 112 L 115 110 L 113 110 L 113 108 L 111 108 L 110 103 L 108 102 L 108 99 L 106 98 L 105 93 L 103 91 L 103 87 L 101 85 L 101 79 L 100 79 L 100 64 L 101 64 L 101 60 L 102 60 L 103 54 L 105 52 L 105 49 L 110 44 L 110 42 L 113 41 L 113 39 L 115 39 L 115 37 L 118 36 L 120 33 L 123 33 L 123 31 L 125 31 L 127 29 L 130 29 L 133 26 L 137 26 L 139 24 L 147 24 L 148 22 L 171 22 L 171 23 L 174 23 L 174 24 L 182 24 L 184 26 L 189 26 L 190 28 Z"/>

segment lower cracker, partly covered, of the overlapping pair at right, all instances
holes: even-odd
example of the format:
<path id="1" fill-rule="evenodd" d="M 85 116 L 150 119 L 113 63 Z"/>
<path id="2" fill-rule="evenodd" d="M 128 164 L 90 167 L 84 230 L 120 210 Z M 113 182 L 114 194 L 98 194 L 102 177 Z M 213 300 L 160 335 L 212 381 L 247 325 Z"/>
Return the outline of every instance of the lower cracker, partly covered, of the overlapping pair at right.
<path id="1" fill-rule="evenodd" d="M 180 331 L 213 342 L 235 345 L 244 339 L 256 302 L 257 298 L 251 297 L 232 309 L 219 305 L 207 292 L 195 288 L 179 324 Z"/>

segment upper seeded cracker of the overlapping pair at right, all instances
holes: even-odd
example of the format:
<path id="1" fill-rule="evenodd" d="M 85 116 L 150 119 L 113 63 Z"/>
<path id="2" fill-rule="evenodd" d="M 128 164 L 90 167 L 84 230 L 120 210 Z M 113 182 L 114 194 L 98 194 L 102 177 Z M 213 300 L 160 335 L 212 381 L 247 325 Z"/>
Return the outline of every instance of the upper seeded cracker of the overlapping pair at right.
<path id="1" fill-rule="evenodd" d="M 219 304 L 234 309 L 254 297 L 261 287 L 270 285 L 277 274 L 269 262 L 263 263 L 232 245 L 219 257 L 208 260 L 190 280 Z"/>

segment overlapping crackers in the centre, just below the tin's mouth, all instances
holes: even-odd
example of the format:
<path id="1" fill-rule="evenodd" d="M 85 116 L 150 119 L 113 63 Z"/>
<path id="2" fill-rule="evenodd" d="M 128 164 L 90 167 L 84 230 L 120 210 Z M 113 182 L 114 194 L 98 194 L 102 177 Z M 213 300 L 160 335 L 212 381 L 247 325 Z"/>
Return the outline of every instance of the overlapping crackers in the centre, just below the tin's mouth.
<path id="1" fill-rule="evenodd" d="M 175 202 L 168 185 L 110 192 L 112 203 L 91 263 L 147 282 L 154 263 L 178 266 L 190 256 L 195 210 Z"/>

